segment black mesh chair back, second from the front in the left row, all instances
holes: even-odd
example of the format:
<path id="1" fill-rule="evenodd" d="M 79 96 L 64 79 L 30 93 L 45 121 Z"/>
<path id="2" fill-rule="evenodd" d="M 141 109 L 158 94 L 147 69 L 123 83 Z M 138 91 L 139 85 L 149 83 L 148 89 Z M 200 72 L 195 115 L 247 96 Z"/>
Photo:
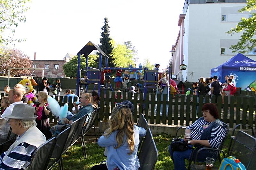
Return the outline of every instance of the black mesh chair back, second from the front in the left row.
<path id="1" fill-rule="evenodd" d="M 68 127 L 67 129 L 60 132 L 60 134 L 58 134 L 56 136 L 56 144 L 53 149 L 47 169 L 49 169 L 49 170 L 52 169 L 58 163 L 59 163 L 60 169 L 62 169 L 61 164 L 60 164 L 60 159 L 61 159 L 62 152 L 64 150 L 64 146 L 66 144 L 68 135 L 70 133 L 70 130 L 71 130 L 71 127 Z"/>

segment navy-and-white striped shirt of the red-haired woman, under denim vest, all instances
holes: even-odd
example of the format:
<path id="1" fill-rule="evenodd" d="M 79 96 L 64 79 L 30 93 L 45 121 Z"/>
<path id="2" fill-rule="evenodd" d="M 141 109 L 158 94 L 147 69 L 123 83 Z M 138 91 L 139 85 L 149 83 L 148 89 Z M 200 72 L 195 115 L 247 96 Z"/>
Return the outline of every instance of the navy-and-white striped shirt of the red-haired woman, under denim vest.
<path id="1" fill-rule="evenodd" d="M 194 122 L 188 129 L 191 130 L 191 138 L 200 140 L 203 130 L 206 129 L 212 122 L 206 122 L 205 120 Z M 193 129 L 193 130 L 192 130 Z M 222 139 L 225 137 L 226 130 L 223 126 L 215 126 L 212 128 L 211 139 L 208 140 L 211 148 L 219 147 Z"/>

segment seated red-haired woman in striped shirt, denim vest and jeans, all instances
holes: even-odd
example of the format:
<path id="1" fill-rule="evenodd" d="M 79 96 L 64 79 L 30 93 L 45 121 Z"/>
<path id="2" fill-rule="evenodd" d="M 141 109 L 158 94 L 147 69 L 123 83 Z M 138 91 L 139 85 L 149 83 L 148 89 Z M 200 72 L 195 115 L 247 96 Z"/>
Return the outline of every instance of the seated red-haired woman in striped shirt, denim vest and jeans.
<path id="1" fill-rule="evenodd" d="M 193 156 L 193 146 L 204 145 L 211 148 L 219 147 L 222 139 L 226 135 L 226 129 L 223 127 L 222 122 L 219 119 L 219 113 L 217 107 L 213 103 L 206 103 L 202 108 L 203 117 L 200 117 L 196 122 L 187 127 L 185 133 L 190 133 L 191 139 L 188 141 L 188 150 L 186 151 L 172 151 L 171 145 L 169 145 L 169 152 L 174 163 L 175 170 L 185 170 L 185 159 Z M 205 161 L 206 157 L 217 158 L 217 152 L 211 150 L 203 150 L 198 154 L 197 159 Z"/>

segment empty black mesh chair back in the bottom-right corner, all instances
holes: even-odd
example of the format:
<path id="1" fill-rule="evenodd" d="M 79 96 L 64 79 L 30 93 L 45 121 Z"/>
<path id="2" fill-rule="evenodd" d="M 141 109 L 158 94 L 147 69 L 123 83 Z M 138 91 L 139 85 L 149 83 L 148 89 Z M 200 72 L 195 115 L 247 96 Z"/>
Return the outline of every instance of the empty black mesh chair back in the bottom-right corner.
<path id="1" fill-rule="evenodd" d="M 239 159 L 247 170 L 252 170 L 256 166 L 255 149 L 256 139 L 243 131 L 238 131 L 229 155 Z"/>

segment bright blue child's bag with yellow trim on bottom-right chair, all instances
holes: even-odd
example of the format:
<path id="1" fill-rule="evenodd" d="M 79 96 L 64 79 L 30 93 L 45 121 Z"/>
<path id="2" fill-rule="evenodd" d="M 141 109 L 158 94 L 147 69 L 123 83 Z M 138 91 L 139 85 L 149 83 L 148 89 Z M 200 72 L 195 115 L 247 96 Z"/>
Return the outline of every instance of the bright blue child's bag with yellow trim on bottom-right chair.
<path id="1" fill-rule="evenodd" d="M 233 156 L 222 159 L 219 170 L 246 170 L 244 164 Z"/>

